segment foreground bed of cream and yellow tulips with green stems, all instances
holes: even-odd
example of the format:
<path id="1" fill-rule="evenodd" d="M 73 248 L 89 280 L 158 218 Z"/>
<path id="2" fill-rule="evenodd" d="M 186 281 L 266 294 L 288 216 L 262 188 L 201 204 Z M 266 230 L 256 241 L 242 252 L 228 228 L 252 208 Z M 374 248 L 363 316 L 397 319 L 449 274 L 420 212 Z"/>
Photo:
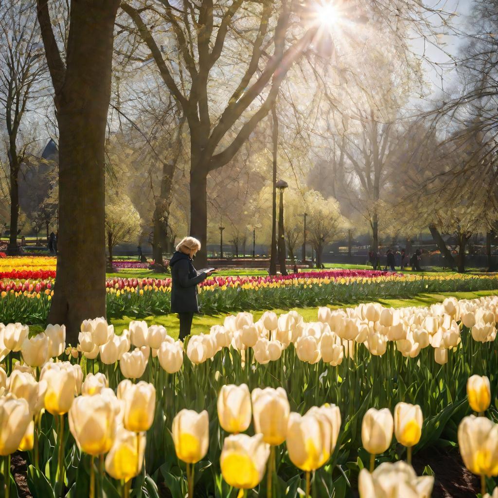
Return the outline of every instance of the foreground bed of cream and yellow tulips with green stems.
<path id="1" fill-rule="evenodd" d="M 22 451 L 34 498 L 427 498 L 438 469 L 411 459 L 444 443 L 495 498 L 497 322 L 486 296 L 240 312 L 185 344 L 138 320 L 87 320 L 77 345 L 0 325 L 4 496 Z"/>

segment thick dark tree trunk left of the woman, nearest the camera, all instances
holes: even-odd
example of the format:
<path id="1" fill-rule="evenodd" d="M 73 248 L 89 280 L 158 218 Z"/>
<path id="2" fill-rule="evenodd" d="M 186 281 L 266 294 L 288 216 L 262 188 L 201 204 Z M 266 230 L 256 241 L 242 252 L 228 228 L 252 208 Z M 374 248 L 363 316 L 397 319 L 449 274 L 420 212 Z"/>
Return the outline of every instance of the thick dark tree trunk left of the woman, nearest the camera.
<path id="1" fill-rule="evenodd" d="M 65 324 L 73 344 L 83 320 L 106 314 L 104 145 L 119 3 L 67 3 L 63 59 L 49 0 L 37 0 L 59 127 L 59 255 L 48 321 Z"/>

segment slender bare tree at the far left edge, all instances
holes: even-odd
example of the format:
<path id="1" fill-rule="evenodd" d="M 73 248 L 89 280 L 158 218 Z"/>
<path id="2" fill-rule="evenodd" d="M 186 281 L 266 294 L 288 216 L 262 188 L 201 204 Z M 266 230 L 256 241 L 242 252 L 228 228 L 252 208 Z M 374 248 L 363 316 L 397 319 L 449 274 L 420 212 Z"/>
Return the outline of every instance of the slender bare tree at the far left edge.
<path id="1" fill-rule="evenodd" d="M 22 127 L 28 103 L 35 107 L 40 97 L 46 71 L 34 7 L 34 3 L 22 0 L 0 6 L 0 116 L 5 122 L 9 163 L 9 254 L 18 253 L 19 173 L 31 145 Z"/>

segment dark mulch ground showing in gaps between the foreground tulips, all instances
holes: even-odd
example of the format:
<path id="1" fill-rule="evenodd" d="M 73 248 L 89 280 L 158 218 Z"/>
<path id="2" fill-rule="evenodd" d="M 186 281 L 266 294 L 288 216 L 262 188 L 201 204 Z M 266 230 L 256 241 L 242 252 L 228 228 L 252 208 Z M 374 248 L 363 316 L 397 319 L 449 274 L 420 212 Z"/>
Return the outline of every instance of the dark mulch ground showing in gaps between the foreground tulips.
<path id="1" fill-rule="evenodd" d="M 480 492 L 479 478 L 465 468 L 457 449 L 432 447 L 413 455 L 413 468 L 418 476 L 422 475 L 426 466 L 435 473 L 432 498 L 475 498 Z M 32 498 L 26 480 L 26 460 L 22 453 L 12 455 L 10 470 L 17 484 L 19 498 Z M 160 496 L 170 496 L 164 483 L 160 483 L 159 490 Z"/>

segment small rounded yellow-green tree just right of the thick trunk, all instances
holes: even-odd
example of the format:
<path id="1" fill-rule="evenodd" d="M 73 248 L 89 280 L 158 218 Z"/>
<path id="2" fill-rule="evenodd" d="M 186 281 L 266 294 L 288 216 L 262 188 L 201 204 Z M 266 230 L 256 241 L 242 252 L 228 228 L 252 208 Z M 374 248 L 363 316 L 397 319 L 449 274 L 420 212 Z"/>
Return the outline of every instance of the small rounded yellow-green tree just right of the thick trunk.
<path id="1" fill-rule="evenodd" d="M 113 192 L 106 203 L 106 237 L 110 271 L 113 271 L 113 249 L 122 242 L 132 242 L 139 233 L 138 211 L 125 193 Z"/>

